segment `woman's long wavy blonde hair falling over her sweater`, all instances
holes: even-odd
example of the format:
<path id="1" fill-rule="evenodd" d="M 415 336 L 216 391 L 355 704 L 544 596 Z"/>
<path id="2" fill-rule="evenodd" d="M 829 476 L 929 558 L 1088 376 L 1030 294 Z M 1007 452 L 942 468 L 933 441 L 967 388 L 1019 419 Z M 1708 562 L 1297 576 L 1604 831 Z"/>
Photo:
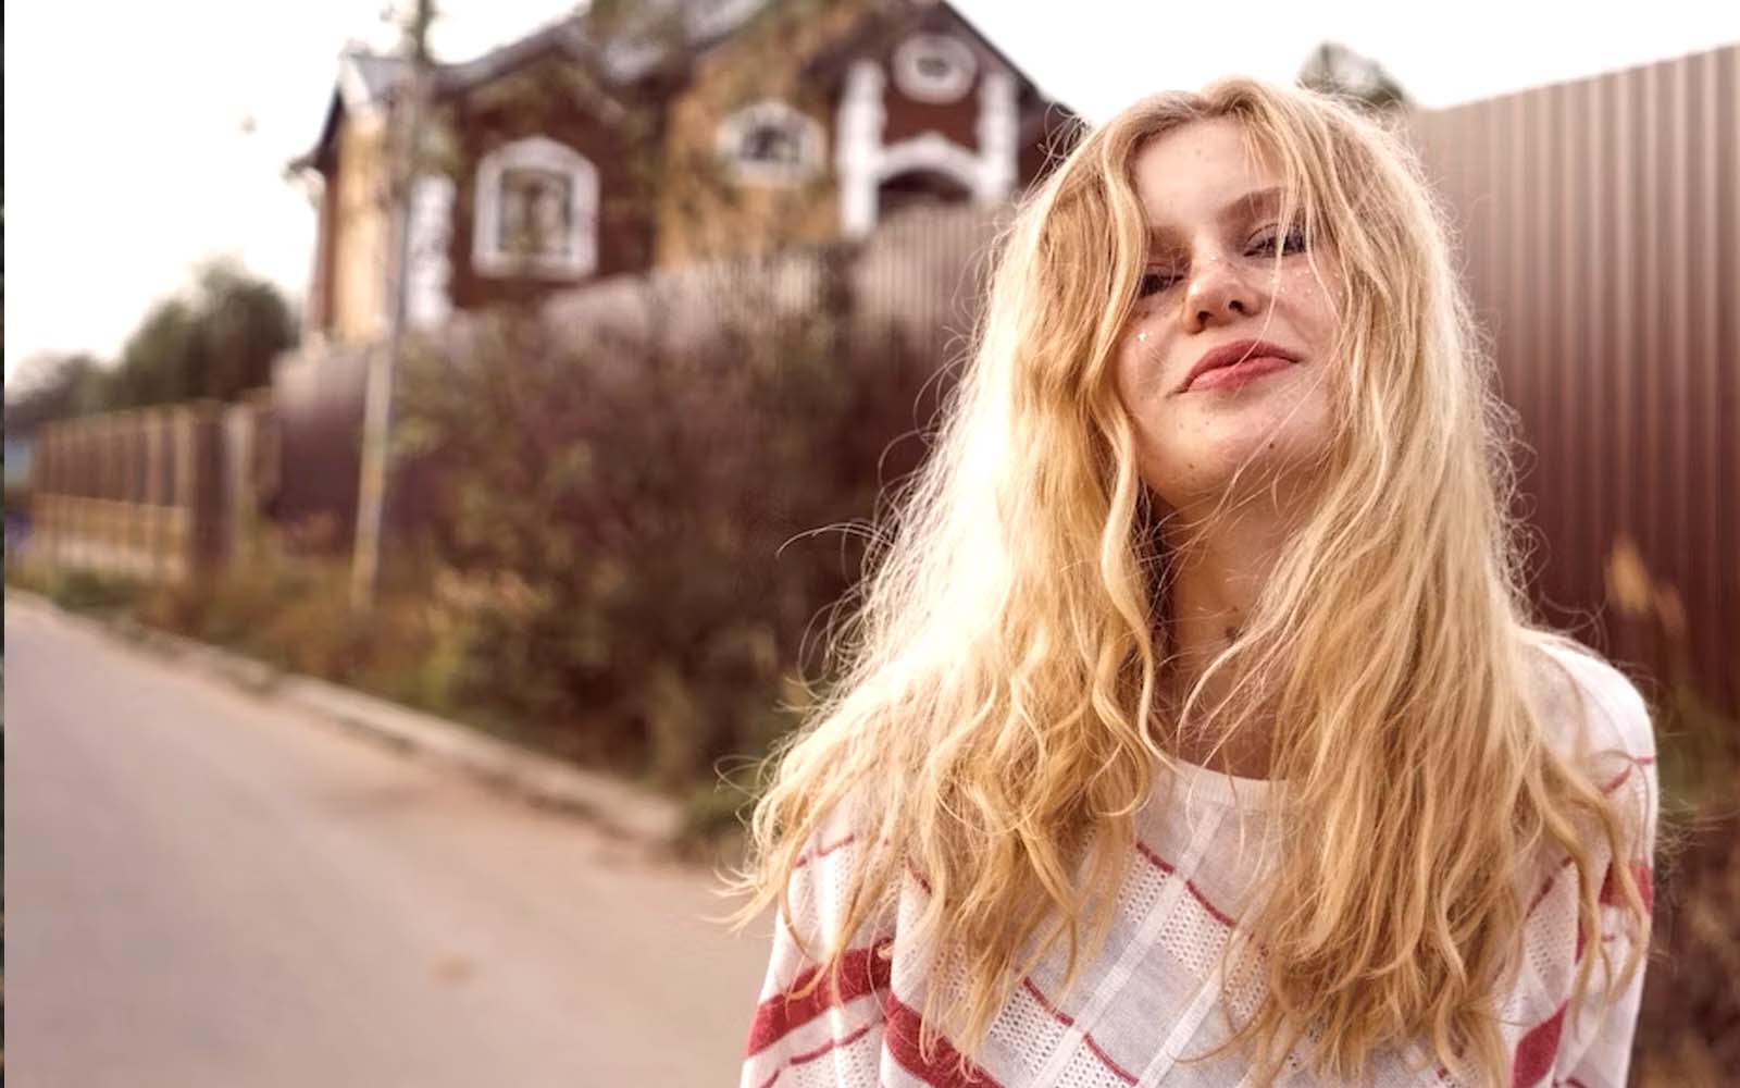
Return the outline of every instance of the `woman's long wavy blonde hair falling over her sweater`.
<path id="1" fill-rule="evenodd" d="M 1114 902 L 1094 890 L 1122 881 L 1181 721 L 1155 696 L 1168 557 L 1112 379 L 1147 259 L 1131 160 L 1206 118 L 1242 125 L 1340 285 L 1321 489 L 1176 710 L 1234 668 L 1241 695 L 1215 709 L 1216 729 L 1282 722 L 1270 775 L 1295 841 L 1315 846 L 1286 851 L 1242 919 L 1262 935 L 1263 997 L 1232 1043 L 1255 1043 L 1265 1085 L 1308 1039 L 1324 1078 L 1364 1079 L 1380 1048 L 1430 1039 L 1449 1069 L 1505 1083 L 1519 874 L 1549 844 L 1569 855 L 1578 926 L 1611 985 L 1601 844 L 1634 856 L 1641 827 L 1549 743 L 1531 695 L 1543 644 L 1575 642 L 1529 620 L 1510 414 L 1444 216 L 1401 136 L 1302 89 L 1230 78 L 1147 97 L 1025 197 L 938 444 L 837 632 L 835 682 L 764 768 L 736 917 L 788 907 L 806 843 L 849 809 L 860 850 L 842 921 L 806 954 L 832 977 L 907 869 L 920 872 L 917 933 L 962 980 L 947 999 L 927 987 L 926 1044 L 943 1032 L 966 1058 L 1042 956 L 1065 947 L 1074 978 L 1100 947 Z M 1650 912 L 1629 867 L 1613 872 L 1629 978 Z"/>

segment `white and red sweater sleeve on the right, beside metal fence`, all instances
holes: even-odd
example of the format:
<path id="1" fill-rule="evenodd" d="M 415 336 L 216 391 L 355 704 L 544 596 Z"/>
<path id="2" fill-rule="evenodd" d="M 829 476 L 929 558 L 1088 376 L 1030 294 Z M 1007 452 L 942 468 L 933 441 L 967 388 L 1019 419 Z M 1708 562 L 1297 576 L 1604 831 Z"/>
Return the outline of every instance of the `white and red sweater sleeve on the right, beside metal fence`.
<path id="1" fill-rule="evenodd" d="M 1615 865 L 1630 867 L 1646 909 L 1653 909 L 1655 900 L 1655 834 L 1660 809 L 1655 735 L 1648 705 L 1618 670 L 1606 663 L 1592 665 L 1585 691 L 1590 691 L 1590 710 L 1599 719 L 1597 735 L 1606 736 L 1603 747 L 1608 757 L 1601 766 L 1608 768 L 1603 771 L 1608 778 L 1603 785 L 1618 803 L 1622 816 L 1639 830 L 1636 853 L 1630 858 L 1610 858 L 1608 877 L 1601 888 L 1601 940 L 1613 970 L 1618 971 L 1630 956 L 1632 944 Z M 1566 1024 L 1559 1060 L 1554 1064 L 1556 1085 L 1625 1086 L 1648 964 L 1648 949 L 1643 952 L 1637 970 L 1618 992 L 1606 989 L 1606 975 L 1599 963 L 1594 964 L 1589 992 Z"/>

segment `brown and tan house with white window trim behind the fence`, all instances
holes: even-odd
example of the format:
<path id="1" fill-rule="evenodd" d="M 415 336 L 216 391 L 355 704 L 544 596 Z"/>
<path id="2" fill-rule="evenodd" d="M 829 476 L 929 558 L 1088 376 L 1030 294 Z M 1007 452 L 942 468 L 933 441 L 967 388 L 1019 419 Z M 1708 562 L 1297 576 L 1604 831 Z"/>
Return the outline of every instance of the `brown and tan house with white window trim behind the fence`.
<path id="1" fill-rule="evenodd" d="M 1074 115 L 952 5 L 647 0 L 430 73 L 407 320 L 614 273 L 860 237 L 912 204 L 1011 198 Z M 313 338 L 383 334 L 409 64 L 350 49 L 313 150 Z"/>

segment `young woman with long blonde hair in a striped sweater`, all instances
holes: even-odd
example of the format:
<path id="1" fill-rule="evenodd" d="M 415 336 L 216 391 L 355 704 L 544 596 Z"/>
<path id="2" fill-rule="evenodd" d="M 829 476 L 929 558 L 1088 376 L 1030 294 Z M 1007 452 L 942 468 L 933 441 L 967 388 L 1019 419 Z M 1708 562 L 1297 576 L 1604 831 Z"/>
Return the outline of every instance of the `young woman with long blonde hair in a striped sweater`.
<path id="1" fill-rule="evenodd" d="M 743 1085 L 1623 1085 L 1650 715 L 1528 618 L 1505 420 L 1387 129 L 1088 134 L 755 809 Z"/>

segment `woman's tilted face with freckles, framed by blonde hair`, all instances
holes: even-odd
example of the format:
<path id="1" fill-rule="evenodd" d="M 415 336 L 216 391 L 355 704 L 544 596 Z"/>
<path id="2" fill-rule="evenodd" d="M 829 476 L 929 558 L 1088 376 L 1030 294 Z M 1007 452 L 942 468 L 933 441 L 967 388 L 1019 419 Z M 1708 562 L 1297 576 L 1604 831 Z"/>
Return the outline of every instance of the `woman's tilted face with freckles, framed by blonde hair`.
<path id="1" fill-rule="evenodd" d="M 1324 449 L 1336 299 L 1312 273 L 1303 230 L 1279 221 L 1281 178 L 1246 155 L 1239 122 L 1190 122 L 1155 138 L 1133 174 L 1150 240 L 1117 348 L 1117 395 L 1136 428 L 1141 479 L 1169 508 L 1190 510 L 1220 500 L 1248 460 L 1241 482 L 1267 484 Z M 1333 261 L 1315 256 L 1329 277 Z M 1185 386 L 1208 352 L 1253 339 L 1281 357 L 1260 359 L 1260 348 Z M 1241 371 L 1242 381 L 1228 381 Z"/>

